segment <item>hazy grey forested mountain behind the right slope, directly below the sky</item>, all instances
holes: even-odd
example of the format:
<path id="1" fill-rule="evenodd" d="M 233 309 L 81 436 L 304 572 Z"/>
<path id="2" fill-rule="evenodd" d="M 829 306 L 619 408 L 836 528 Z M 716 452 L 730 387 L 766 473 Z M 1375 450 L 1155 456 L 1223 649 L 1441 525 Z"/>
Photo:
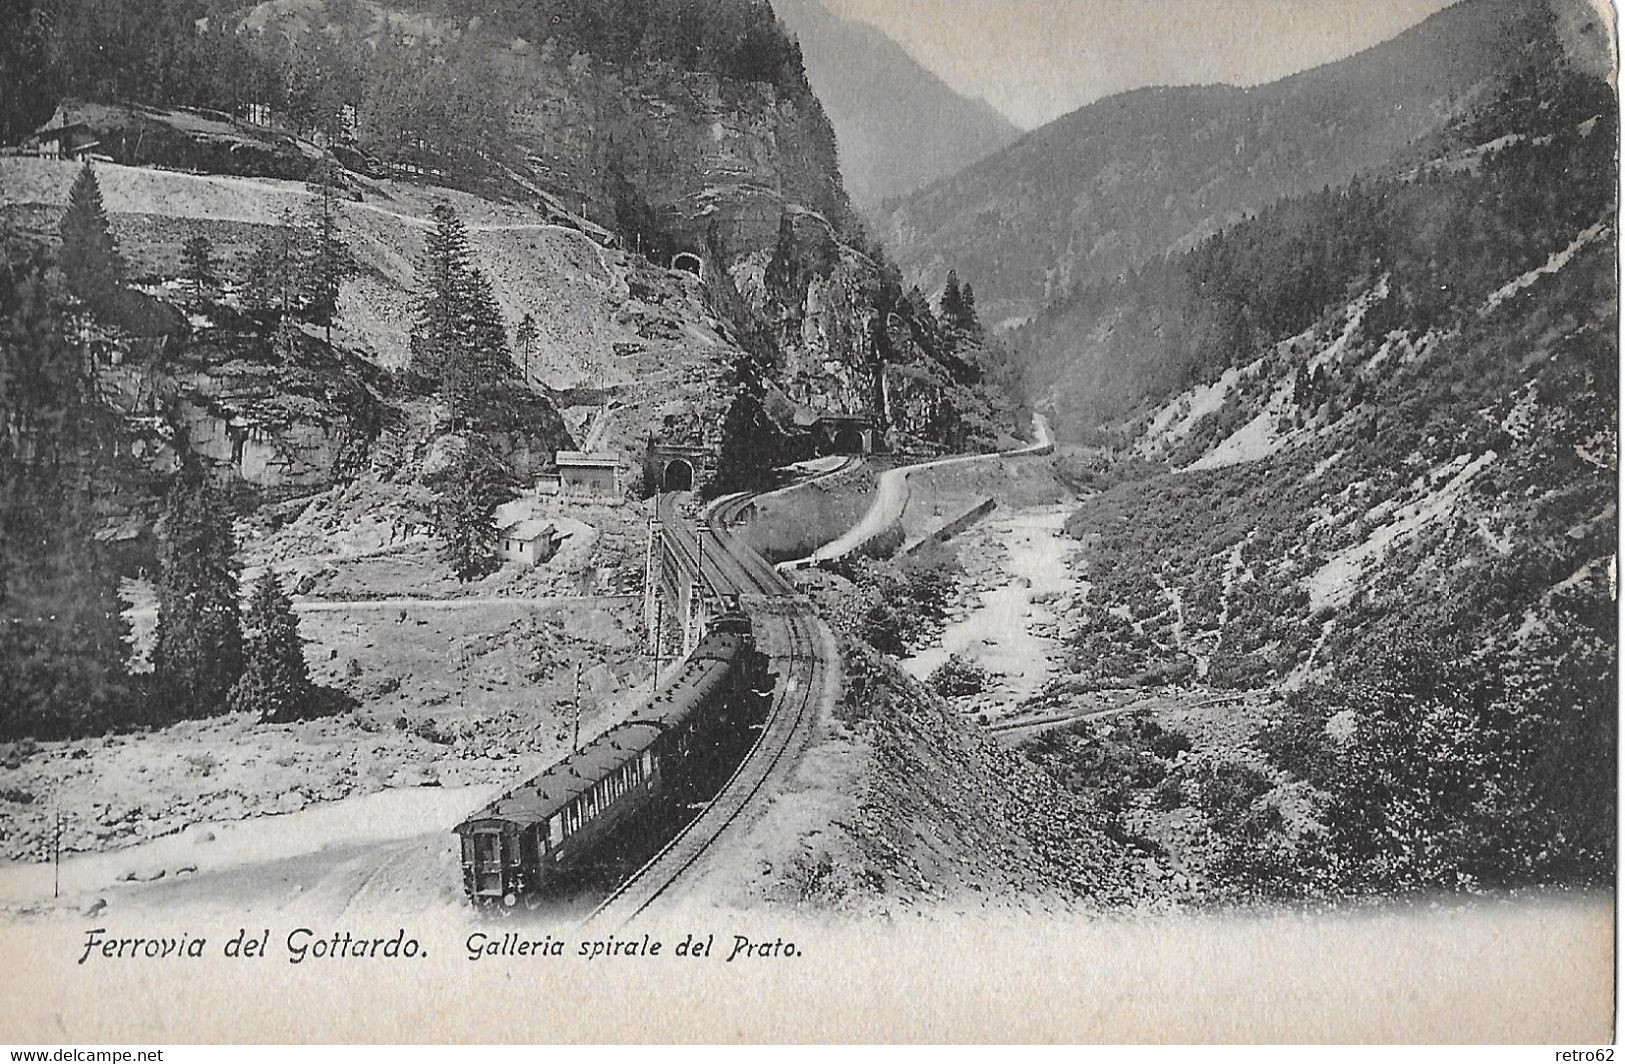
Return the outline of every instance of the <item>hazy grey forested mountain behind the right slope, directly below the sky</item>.
<path id="1" fill-rule="evenodd" d="M 1580 34 L 1586 5 L 1563 6 Z M 1098 101 L 895 206 L 881 237 L 912 278 L 939 278 L 954 263 L 990 320 L 1024 318 L 1282 195 L 1383 169 L 1505 73 L 1540 8 L 1462 0 L 1386 44 L 1272 84 Z"/>

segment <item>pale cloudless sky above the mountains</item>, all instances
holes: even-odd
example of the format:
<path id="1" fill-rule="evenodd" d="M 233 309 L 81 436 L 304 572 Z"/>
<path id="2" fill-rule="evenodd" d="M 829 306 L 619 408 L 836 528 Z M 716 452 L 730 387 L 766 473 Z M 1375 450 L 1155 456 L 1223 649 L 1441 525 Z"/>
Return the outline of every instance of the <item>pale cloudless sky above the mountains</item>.
<path id="1" fill-rule="evenodd" d="M 1261 84 L 1453 0 L 822 0 L 1022 128 L 1146 84 Z"/>

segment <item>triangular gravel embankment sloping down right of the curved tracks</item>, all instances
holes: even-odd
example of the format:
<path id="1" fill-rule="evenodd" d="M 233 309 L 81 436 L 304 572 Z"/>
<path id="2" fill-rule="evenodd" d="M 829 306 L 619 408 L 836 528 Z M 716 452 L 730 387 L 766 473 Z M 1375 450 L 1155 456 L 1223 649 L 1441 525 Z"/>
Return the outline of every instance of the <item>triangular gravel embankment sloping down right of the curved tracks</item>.
<path id="1" fill-rule="evenodd" d="M 840 702 L 697 890 L 843 916 L 1134 903 L 1133 854 L 1086 802 L 861 638 L 837 640 Z"/>

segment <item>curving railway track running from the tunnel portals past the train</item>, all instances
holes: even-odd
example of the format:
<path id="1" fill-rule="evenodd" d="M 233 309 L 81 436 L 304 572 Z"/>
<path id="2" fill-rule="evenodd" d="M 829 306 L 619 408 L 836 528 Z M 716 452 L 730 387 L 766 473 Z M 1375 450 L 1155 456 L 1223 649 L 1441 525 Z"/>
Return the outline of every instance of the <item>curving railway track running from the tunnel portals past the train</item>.
<path id="1" fill-rule="evenodd" d="M 588 923 L 621 926 L 666 897 L 759 796 L 783 781 L 812 734 L 819 702 L 835 695 L 838 658 L 829 629 L 804 596 L 728 531 L 751 500 L 751 495 L 736 495 L 710 508 L 705 515 L 710 538 L 704 549 L 678 513 L 678 495 L 661 495 L 656 512 L 666 541 L 700 573 L 700 585 L 712 595 L 736 595 L 751 616 L 757 648 L 777 676 L 767 720 L 705 809 L 604 898 Z"/>

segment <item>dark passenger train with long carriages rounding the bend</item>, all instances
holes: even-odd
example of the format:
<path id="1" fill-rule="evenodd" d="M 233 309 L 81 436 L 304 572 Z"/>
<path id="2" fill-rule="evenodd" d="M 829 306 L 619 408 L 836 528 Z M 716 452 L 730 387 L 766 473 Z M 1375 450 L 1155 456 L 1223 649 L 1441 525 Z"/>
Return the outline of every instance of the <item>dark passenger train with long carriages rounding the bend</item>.
<path id="1" fill-rule="evenodd" d="M 712 798 L 743 759 L 769 694 L 751 619 L 730 601 L 647 705 L 453 828 L 468 900 L 535 905 L 614 840 Z"/>

